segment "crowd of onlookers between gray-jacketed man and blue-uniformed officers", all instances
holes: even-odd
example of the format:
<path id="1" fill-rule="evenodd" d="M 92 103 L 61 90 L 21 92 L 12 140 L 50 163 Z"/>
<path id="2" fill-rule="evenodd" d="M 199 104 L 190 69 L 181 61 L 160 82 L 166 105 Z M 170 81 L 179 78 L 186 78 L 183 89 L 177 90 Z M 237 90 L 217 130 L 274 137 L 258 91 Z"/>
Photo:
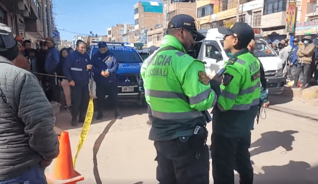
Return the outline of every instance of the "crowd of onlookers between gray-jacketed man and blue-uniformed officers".
<path id="1" fill-rule="evenodd" d="M 30 40 L 16 36 L 19 55 L 13 63 L 15 66 L 31 71 L 39 80 L 46 97 L 51 103 L 60 103 L 61 89 L 65 96 L 65 109 L 71 108 L 71 89 L 63 74 L 63 64 L 73 48 L 63 48 L 60 52 L 51 37 L 40 41 L 39 48 L 31 47 Z M 64 101 L 64 100 L 63 100 Z"/>

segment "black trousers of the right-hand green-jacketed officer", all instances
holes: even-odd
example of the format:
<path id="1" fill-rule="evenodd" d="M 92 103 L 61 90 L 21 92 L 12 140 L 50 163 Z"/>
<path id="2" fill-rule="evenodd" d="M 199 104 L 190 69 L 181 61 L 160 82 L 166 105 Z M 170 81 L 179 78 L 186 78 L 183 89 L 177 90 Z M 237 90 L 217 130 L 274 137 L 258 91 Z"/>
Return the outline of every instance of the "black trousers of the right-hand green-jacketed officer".
<path id="1" fill-rule="evenodd" d="M 253 183 L 250 163 L 251 133 L 242 137 L 225 137 L 212 133 L 211 157 L 214 184 L 234 184 L 234 170 L 239 173 L 240 184 Z"/>

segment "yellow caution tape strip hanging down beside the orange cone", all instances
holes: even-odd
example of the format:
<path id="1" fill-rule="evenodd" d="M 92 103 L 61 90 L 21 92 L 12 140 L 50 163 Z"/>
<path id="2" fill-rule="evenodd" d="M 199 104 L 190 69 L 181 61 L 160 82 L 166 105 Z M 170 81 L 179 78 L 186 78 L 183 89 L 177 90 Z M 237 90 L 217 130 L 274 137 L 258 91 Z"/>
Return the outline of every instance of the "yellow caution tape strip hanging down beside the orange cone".
<path id="1" fill-rule="evenodd" d="M 73 160 L 74 168 L 75 168 L 76 158 L 78 157 L 78 154 L 79 154 L 79 150 L 82 147 L 82 145 L 86 139 L 86 136 L 88 134 L 90 123 L 93 119 L 93 113 L 94 113 L 93 97 L 90 96 L 85 121 L 84 121 L 83 127 L 82 127 L 81 132 L 80 132 L 78 149 L 76 151 L 76 154 L 75 154 L 75 157 Z"/>

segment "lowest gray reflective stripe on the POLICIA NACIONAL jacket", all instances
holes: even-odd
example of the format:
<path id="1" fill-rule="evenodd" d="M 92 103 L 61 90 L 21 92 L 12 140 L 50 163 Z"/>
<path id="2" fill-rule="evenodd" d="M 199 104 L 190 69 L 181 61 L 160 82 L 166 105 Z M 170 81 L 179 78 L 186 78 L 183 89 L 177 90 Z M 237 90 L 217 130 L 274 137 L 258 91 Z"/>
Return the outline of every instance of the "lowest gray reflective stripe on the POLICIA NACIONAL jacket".
<path id="1" fill-rule="evenodd" d="M 182 113 L 162 113 L 152 110 L 152 114 L 154 117 L 162 120 L 185 120 L 199 118 L 203 116 L 202 112 L 200 111 L 190 111 Z"/>

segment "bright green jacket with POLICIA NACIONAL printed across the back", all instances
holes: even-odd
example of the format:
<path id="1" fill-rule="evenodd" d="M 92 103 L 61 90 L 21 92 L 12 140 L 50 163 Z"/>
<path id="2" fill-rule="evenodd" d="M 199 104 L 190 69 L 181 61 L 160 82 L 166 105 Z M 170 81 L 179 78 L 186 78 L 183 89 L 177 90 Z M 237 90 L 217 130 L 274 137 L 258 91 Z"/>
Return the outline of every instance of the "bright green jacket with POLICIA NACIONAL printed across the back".
<path id="1" fill-rule="evenodd" d="M 162 51 L 165 47 L 175 49 Z M 164 36 L 158 53 L 152 57 L 144 61 L 141 69 L 147 103 L 151 106 L 153 117 L 160 120 L 153 122 L 152 128 L 158 127 L 158 131 L 169 129 L 167 139 L 186 136 L 178 135 L 176 131 L 192 129 L 196 124 L 182 125 L 182 122 L 204 117 L 201 111 L 210 109 L 217 101 L 205 74 L 204 63 L 187 55 L 182 44 L 170 35 Z M 168 127 L 169 124 L 174 127 Z M 164 133 L 167 132 L 161 134 Z M 165 138 L 150 136 L 150 139 Z"/>

